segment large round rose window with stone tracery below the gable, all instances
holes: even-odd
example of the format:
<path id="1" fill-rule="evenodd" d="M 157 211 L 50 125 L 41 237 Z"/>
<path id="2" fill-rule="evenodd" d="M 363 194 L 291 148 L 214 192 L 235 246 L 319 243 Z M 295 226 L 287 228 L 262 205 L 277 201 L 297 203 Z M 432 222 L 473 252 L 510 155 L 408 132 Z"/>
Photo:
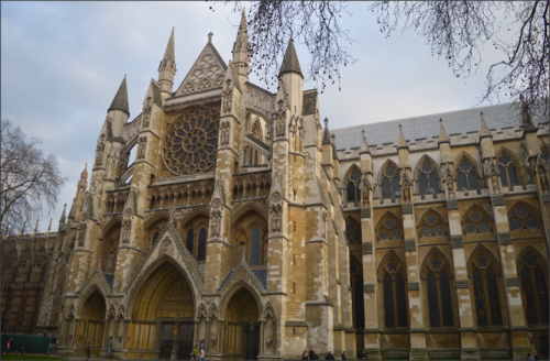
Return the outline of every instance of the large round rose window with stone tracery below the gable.
<path id="1" fill-rule="evenodd" d="M 194 109 L 167 125 L 164 163 L 178 175 L 213 171 L 218 149 L 219 114 L 212 109 Z"/>

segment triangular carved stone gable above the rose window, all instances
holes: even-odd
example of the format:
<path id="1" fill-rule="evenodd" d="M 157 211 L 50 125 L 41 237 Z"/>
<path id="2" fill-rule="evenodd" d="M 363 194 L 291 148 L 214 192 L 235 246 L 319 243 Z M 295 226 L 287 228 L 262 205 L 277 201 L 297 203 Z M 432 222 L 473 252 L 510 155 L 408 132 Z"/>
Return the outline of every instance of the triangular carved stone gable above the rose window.
<path id="1" fill-rule="evenodd" d="M 220 54 L 208 43 L 176 91 L 176 97 L 221 88 L 228 66 Z"/>

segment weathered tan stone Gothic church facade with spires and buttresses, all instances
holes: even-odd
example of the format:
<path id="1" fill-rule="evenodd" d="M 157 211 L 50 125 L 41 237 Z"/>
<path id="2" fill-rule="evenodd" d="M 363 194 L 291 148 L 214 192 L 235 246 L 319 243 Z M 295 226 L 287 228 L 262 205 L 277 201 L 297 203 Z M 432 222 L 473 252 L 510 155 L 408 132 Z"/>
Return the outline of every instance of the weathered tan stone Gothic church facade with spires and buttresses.
<path id="1" fill-rule="evenodd" d="M 174 91 L 173 33 L 131 122 L 124 78 L 46 245 L 35 329 L 122 359 L 548 352 L 548 128 L 480 116 L 337 150 L 293 42 L 276 94 L 249 81 L 248 51 L 243 18 L 233 61 L 209 34 Z M 8 299 L 21 285 L 2 280 Z"/>

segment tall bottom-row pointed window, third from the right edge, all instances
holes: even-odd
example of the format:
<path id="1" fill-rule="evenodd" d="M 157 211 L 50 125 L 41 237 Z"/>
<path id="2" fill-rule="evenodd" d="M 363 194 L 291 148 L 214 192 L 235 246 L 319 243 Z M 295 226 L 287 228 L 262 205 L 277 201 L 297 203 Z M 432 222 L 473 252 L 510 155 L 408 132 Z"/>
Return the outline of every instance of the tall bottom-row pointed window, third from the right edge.
<path id="1" fill-rule="evenodd" d="M 435 254 L 426 262 L 426 269 L 430 327 L 454 327 L 450 265 Z"/>

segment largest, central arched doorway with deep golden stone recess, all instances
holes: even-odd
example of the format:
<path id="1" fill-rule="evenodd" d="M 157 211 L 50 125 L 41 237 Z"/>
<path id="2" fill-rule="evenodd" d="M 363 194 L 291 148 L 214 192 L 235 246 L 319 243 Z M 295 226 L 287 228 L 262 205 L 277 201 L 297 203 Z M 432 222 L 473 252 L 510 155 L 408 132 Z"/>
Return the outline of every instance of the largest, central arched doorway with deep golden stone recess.
<path id="1" fill-rule="evenodd" d="M 144 277 L 133 300 L 127 349 L 161 360 L 189 360 L 195 336 L 193 292 L 182 271 L 164 262 Z"/>

